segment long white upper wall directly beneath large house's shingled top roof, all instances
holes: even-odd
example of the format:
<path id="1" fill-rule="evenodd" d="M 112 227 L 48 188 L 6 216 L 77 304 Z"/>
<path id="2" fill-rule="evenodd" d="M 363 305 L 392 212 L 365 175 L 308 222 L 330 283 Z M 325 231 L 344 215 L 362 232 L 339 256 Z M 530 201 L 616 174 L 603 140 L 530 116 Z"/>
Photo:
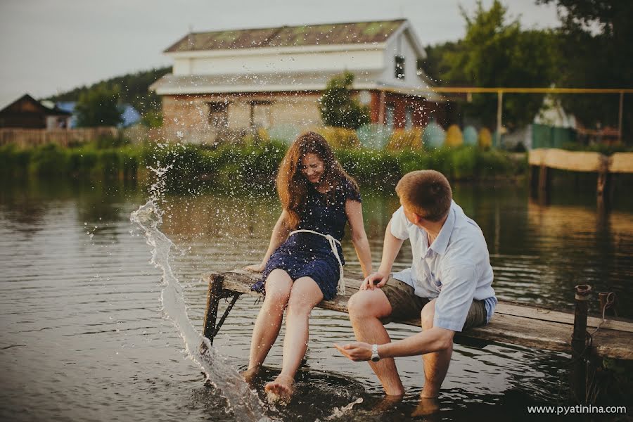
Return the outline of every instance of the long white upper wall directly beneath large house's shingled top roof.
<path id="1" fill-rule="evenodd" d="M 267 72 L 315 72 L 384 68 L 382 49 L 321 52 L 266 52 L 252 49 L 239 54 L 175 56 L 174 75 L 226 75 Z"/>

